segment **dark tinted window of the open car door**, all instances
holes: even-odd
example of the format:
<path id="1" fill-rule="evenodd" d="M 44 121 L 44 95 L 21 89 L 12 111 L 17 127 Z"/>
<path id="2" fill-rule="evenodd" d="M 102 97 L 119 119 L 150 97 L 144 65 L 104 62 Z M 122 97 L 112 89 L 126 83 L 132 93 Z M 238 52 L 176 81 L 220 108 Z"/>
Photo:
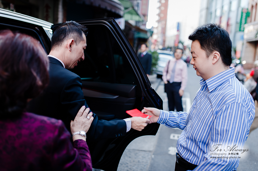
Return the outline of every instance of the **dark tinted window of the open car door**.
<path id="1" fill-rule="evenodd" d="M 135 84 L 135 76 L 123 49 L 105 25 L 86 25 L 85 59 L 71 71 L 82 81 Z"/>

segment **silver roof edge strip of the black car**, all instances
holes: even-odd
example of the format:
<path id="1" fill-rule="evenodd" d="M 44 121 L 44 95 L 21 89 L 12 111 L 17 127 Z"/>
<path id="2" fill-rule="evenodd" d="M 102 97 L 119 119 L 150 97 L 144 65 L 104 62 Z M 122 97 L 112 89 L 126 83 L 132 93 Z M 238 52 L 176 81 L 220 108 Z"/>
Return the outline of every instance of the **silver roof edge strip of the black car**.
<path id="1" fill-rule="evenodd" d="M 48 31 L 52 32 L 52 30 L 51 30 L 51 26 L 53 25 L 52 23 L 28 16 L 28 15 L 24 15 L 24 14 L 20 14 L 20 13 L 16 13 L 13 11 L 8 11 L 6 9 L 0 8 L 0 17 L 11 18 L 14 20 L 19 20 L 19 21 L 39 25 L 39 26 L 42 26 L 44 30 L 48 30 Z"/>

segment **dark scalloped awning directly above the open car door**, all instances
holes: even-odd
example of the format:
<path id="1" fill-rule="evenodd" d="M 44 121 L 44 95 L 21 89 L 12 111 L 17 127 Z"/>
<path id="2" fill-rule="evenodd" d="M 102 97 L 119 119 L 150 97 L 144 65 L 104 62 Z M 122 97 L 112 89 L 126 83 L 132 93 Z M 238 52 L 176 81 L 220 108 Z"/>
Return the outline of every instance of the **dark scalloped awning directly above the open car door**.
<path id="1" fill-rule="evenodd" d="M 123 4 L 118 0 L 76 0 L 76 3 L 85 3 L 86 5 L 107 9 L 108 11 L 114 12 L 121 17 L 123 17 L 124 14 Z"/>

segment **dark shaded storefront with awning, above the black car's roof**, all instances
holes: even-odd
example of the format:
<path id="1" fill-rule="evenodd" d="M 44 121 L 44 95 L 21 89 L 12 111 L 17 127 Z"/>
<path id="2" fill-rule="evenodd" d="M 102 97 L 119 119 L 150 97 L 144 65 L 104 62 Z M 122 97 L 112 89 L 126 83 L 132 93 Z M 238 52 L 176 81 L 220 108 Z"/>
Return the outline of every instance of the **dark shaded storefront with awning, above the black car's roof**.
<path id="1" fill-rule="evenodd" d="M 57 24 L 96 18 L 120 18 L 123 4 L 118 0 L 0 0 L 0 8 Z"/>

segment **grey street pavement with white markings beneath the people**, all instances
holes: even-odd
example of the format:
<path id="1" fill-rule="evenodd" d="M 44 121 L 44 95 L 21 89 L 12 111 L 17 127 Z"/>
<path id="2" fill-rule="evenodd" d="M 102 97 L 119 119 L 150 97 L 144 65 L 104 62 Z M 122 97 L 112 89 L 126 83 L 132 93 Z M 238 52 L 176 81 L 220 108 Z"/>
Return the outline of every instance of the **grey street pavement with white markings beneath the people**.
<path id="1" fill-rule="evenodd" d="M 188 67 L 188 83 L 184 91 L 183 109 L 189 111 L 193 98 L 200 88 L 196 71 L 192 65 Z M 164 92 L 164 82 L 155 75 L 151 75 L 149 80 L 152 87 L 163 100 L 163 109 L 168 110 L 167 96 Z M 125 149 L 119 165 L 118 171 L 171 171 L 175 168 L 176 142 L 182 130 L 178 128 L 168 128 L 160 125 L 156 136 L 142 136 L 133 140 Z M 256 170 L 258 171 L 258 129 L 254 130 L 248 137 L 244 149 L 247 152 L 241 155 L 238 171 Z M 93 169 L 93 171 L 100 171 Z"/>

